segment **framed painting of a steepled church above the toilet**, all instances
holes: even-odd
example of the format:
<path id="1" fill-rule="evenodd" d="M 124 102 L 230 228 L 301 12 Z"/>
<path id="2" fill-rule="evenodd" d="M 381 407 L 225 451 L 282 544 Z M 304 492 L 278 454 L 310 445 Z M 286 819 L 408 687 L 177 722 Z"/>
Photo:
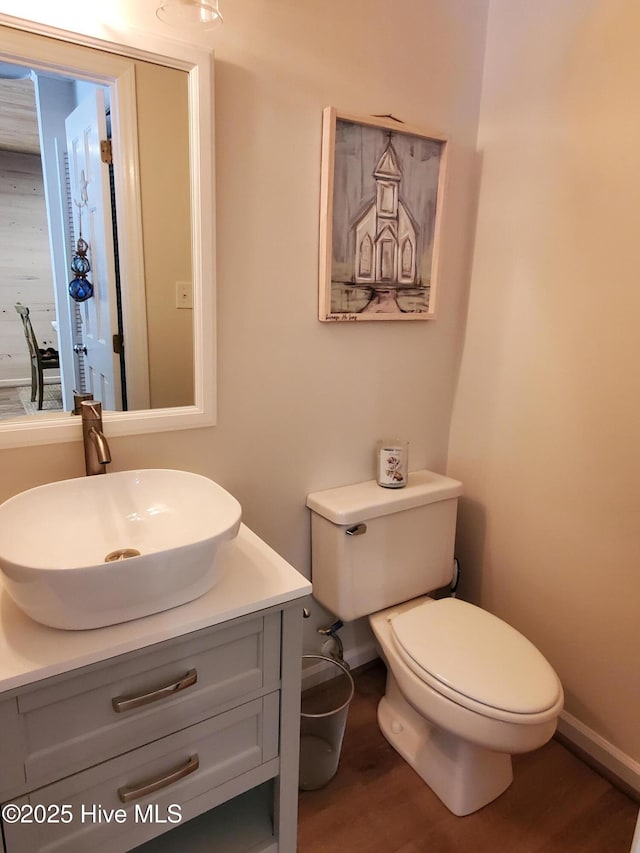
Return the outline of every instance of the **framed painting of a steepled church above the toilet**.
<path id="1" fill-rule="evenodd" d="M 446 153 L 391 117 L 324 110 L 320 320 L 434 317 Z"/>

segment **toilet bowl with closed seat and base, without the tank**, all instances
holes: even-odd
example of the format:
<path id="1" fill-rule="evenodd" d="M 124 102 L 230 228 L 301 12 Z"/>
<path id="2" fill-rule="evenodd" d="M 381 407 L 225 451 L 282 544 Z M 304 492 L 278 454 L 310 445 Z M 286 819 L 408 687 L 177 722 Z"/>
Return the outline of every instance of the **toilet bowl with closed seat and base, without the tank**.
<path id="1" fill-rule="evenodd" d="M 450 621 L 453 636 L 464 640 L 465 620 L 466 642 L 452 643 L 446 631 L 433 643 Z M 387 666 L 382 733 L 454 814 L 482 808 L 511 784 L 511 755 L 553 735 L 563 702 L 555 672 L 522 634 L 457 599 L 416 599 L 373 614 L 369 623 Z M 496 655 L 501 640 L 511 644 L 508 661 Z M 435 660 L 425 669 L 416 656 L 428 661 L 430 652 Z"/>

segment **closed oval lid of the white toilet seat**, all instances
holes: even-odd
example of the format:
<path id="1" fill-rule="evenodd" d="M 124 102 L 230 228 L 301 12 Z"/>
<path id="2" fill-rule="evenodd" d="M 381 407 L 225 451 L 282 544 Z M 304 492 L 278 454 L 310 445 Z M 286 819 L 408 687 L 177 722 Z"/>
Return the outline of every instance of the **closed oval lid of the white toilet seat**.
<path id="1" fill-rule="evenodd" d="M 393 616 L 391 629 L 411 669 L 436 689 L 516 714 L 546 711 L 560 697 L 558 677 L 533 643 L 473 604 L 427 601 Z"/>

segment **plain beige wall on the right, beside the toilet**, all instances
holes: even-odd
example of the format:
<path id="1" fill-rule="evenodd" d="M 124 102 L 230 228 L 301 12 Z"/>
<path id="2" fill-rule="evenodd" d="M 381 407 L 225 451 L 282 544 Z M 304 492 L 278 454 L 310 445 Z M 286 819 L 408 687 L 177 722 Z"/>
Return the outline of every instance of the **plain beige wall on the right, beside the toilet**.
<path id="1" fill-rule="evenodd" d="M 640 760 L 637 2 L 492 0 L 449 472 L 463 595 Z M 638 765 L 636 765 L 637 772 Z"/>

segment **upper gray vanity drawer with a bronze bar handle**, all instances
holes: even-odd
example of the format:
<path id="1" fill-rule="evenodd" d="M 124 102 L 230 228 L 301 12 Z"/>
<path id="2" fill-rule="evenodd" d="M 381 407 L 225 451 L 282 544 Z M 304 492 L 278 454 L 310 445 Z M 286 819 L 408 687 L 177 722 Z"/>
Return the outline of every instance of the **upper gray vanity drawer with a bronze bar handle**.
<path id="1" fill-rule="evenodd" d="M 184 729 L 279 686 L 280 614 L 124 655 L 18 696 L 29 788 Z"/>

